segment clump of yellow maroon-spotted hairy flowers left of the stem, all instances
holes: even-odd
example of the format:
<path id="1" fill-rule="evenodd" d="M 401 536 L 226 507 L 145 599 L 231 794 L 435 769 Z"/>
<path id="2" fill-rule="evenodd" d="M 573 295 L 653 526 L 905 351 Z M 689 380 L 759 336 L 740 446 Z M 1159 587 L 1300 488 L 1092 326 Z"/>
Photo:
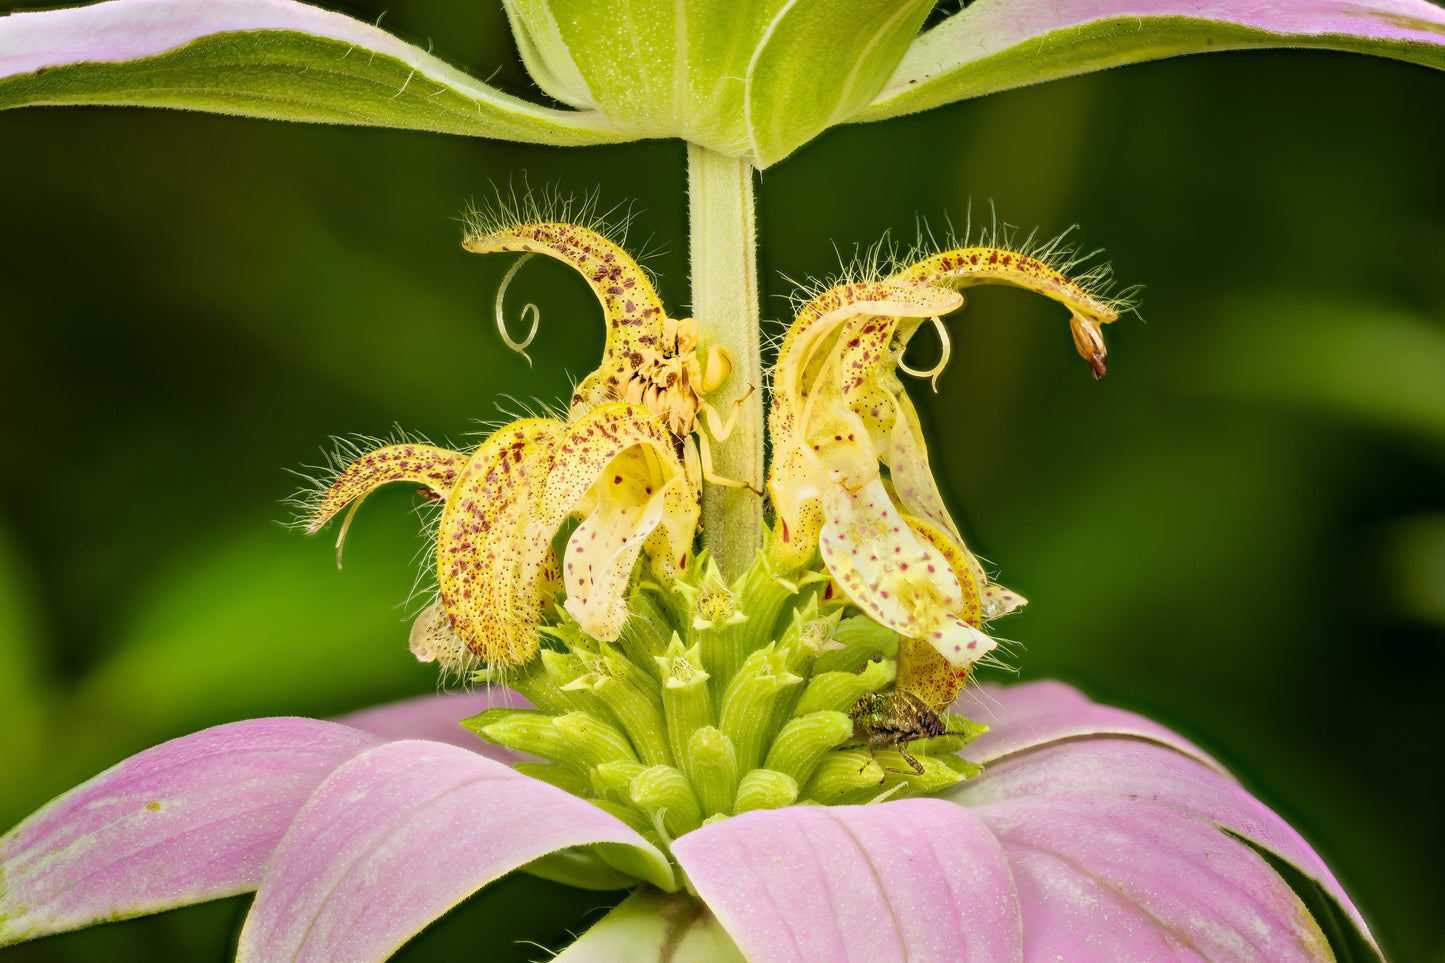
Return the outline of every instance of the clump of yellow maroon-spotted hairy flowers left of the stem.
<path id="1" fill-rule="evenodd" d="M 545 253 L 581 272 L 605 315 L 601 366 L 578 385 L 568 422 L 516 421 L 470 454 L 389 445 L 363 455 L 322 495 L 308 529 L 387 482 L 445 497 L 439 602 L 418 619 L 412 651 L 452 669 L 477 659 L 506 668 L 536 654 L 559 591 L 584 632 L 614 641 L 643 548 L 659 573 L 688 564 L 698 499 L 683 455 L 698 414 L 711 411 L 701 392 L 728 366 L 718 356 L 704 369 L 696 324 L 668 318 L 637 263 L 595 231 L 561 221 L 493 226 L 465 246 Z M 581 523 L 559 564 L 552 538 L 574 516 Z"/>

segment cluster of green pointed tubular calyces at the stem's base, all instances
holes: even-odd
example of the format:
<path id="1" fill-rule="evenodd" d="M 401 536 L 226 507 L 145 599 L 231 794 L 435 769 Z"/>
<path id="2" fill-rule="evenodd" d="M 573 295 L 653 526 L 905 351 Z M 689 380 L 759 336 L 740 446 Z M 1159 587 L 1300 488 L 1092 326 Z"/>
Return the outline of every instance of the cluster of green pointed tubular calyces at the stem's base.
<path id="1" fill-rule="evenodd" d="M 542 759 L 517 768 L 663 849 L 750 810 L 929 794 L 977 774 L 957 752 L 987 726 L 944 714 L 948 735 L 932 739 L 868 729 L 863 707 L 889 698 L 897 635 L 850 617 L 828 586 L 812 570 L 770 571 L 764 554 L 725 584 L 699 558 L 669 581 L 634 581 L 616 642 L 558 606 L 549 646 L 504 678 L 533 707 L 462 724 Z"/>

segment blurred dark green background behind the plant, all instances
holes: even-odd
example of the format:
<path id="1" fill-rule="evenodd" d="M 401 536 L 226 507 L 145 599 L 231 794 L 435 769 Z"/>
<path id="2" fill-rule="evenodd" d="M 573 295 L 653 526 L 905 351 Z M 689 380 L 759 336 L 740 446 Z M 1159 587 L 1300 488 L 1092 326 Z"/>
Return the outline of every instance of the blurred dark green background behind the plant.
<path id="1" fill-rule="evenodd" d="M 418 0 L 383 25 L 527 94 L 500 7 L 481 6 Z M 759 188 L 766 317 L 788 314 L 785 278 L 828 275 L 887 231 L 910 241 L 919 217 L 961 226 L 970 202 L 1043 234 L 1078 221 L 1146 285 L 1147 324 L 1107 331 L 1098 385 L 1058 305 L 971 296 L 941 392 L 913 390 L 941 482 L 1032 600 L 998 626 L 1019 677 L 1065 678 L 1217 753 L 1402 962 L 1445 960 L 1442 104 L 1445 74 L 1419 67 L 1186 58 L 834 130 Z M 665 302 L 688 302 L 679 143 L 77 108 L 0 114 L 0 145 L 4 826 L 171 736 L 436 687 L 405 643 L 415 499 L 368 500 L 341 573 L 329 536 L 277 522 L 288 470 L 331 434 L 470 444 L 500 396 L 555 401 L 595 364 L 595 302 L 552 263 L 510 295 L 542 307 L 536 369 L 504 350 L 488 318 L 510 259 L 461 250 L 468 201 L 597 189 L 633 213 L 629 247 Z M 561 933 L 474 902 L 410 956 L 501 959 L 497 938 Z M 244 908 L 0 960 L 220 960 Z"/>

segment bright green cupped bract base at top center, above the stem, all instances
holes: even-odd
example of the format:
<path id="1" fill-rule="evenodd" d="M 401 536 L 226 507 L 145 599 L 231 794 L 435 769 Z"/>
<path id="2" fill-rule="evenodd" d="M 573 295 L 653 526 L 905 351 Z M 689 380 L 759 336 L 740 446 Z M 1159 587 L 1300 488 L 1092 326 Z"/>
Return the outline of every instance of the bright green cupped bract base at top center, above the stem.
<path id="1" fill-rule="evenodd" d="M 523 62 L 564 103 L 636 137 L 682 137 L 756 166 L 863 108 L 929 0 L 516 0 Z"/>

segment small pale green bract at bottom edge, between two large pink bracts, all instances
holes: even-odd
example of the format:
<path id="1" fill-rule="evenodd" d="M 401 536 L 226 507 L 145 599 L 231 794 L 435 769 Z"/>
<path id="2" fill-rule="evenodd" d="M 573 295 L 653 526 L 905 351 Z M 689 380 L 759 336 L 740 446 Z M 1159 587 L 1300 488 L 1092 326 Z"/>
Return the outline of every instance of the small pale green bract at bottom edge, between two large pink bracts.
<path id="1" fill-rule="evenodd" d="M 681 892 L 640 886 L 552 963 L 747 963 L 717 917 Z"/>

